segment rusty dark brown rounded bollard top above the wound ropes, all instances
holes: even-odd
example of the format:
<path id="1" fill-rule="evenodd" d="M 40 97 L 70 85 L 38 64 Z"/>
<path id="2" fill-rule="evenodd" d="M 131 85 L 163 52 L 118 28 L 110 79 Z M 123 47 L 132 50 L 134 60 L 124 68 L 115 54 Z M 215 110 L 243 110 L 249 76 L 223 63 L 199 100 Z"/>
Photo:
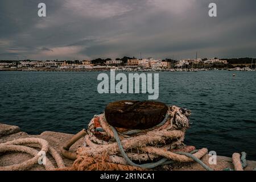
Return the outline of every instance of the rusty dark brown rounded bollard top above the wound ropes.
<path id="1" fill-rule="evenodd" d="M 149 129 L 166 116 L 168 107 L 156 101 L 117 101 L 105 108 L 106 121 L 114 127 Z"/>

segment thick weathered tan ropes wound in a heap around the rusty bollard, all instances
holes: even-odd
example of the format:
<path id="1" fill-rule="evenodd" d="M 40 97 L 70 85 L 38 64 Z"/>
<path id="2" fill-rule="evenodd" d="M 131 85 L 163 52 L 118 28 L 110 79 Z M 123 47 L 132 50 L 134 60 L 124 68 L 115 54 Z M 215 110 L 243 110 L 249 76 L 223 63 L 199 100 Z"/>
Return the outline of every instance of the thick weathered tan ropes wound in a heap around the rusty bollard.
<path id="1" fill-rule="evenodd" d="M 174 162 L 196 161 L 205 169 L 212 170 L 200 160 L 207 154 L 207 148 L 202 148 L 201 150 L 193 149 L 195 151 L 188 150 L 191 153 L 179 151 L 186 150 L 183 140 L 185 130 L 189 125 L 188 117 L 190 114 L 189 110 L 172 106 L 168 108 L 168 113 L 163 121 L 155 127 L 125 132 L 120 129 L 119 133 L 115 127 L 106 122 L 105 114 L 95 115 L 88 125 L 88 134 L 85 135 L 84 145 L 77 149 L 77 160 L 74 162 L 73 167 L 75 169 L 87 169 L 83 165 L 90 166 L 90 163 L 82 162 L 84 159 L 90 158 L 90 156 L 108 155 L 108 162 L 138 168 L 151 169 Z M 175 148 L 177 151 L 174 150 Z M 137 150 L 138 153 L 134 153 L 133 150 Z M 171 152 L 170 150 L 174 151 Z M 140 154 L 139 151 L 142 153 Z M 147 162 L 159 158 L 162 159 L 146 164 L 133 162 Z"/>

